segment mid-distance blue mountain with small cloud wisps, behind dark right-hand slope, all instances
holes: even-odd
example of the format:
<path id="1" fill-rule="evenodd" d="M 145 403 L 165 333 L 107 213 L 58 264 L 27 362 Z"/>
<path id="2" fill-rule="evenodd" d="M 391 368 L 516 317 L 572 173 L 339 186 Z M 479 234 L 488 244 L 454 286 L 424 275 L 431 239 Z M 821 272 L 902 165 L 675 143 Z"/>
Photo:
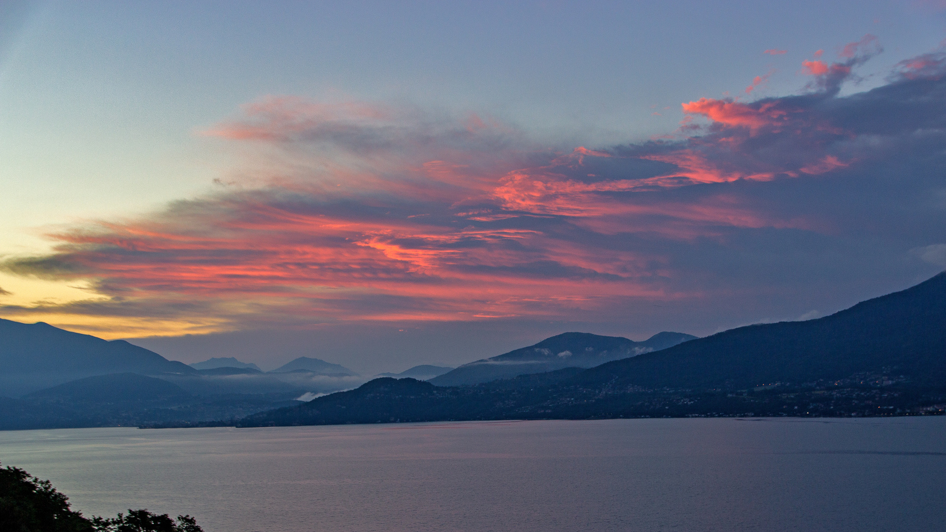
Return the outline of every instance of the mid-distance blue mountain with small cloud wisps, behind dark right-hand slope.
<path id="1" fill-rule="evenodd" d="M 696 338 L 682 332 L 658 332 L 643 342 L 620 336 L 587 332 L 565 332 L 508 353 L 479 360 L 430 379 L 437 386 L 457 386 L 511 379 L 517 375 L 543 373 L 563 367 L 594 367 L 675 346 Z"/>

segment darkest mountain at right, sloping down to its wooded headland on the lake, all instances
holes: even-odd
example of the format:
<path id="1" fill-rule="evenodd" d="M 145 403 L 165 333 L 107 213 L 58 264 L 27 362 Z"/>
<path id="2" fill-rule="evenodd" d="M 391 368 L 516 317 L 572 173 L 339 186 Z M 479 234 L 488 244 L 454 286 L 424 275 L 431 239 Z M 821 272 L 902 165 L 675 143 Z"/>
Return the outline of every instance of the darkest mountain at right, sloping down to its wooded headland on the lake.
<path id="1" fill-rule="evenodd" d="M 465 386 L 377 379 L 236 425 L 944 413 L 946 273 L 824 318 L 734 328 L 590 369 Z"/>

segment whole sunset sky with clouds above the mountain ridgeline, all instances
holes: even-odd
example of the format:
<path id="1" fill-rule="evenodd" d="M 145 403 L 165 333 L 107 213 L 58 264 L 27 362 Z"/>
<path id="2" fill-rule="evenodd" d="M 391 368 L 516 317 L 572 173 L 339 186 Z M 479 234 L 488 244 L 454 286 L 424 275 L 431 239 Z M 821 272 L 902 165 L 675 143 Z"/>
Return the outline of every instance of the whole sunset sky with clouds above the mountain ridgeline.
<path id="1" fill-rule="evenodd" d="M 946 268 L 939 2 L 0 3 L 0 317 L 464 364 Z"/>

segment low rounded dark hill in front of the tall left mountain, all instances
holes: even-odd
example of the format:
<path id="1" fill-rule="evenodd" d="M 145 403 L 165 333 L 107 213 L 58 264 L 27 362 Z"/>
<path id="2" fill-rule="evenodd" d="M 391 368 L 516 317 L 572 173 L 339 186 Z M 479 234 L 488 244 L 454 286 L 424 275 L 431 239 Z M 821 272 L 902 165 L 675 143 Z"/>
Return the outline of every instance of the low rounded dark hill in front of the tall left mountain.
<path id="1" fill-rule="evenodd" d="M 168 381 L 138 375 L 137 373 L 116 373 L 96 375 L 78 381 L 65 382 L 52 388 L 26 394 L 24 399 L 67 399 L 91 400 L 99 402 L 121 402 L 128 400 L 149 400 L 180 398 L 188 396 L 183 388 Z"/>

